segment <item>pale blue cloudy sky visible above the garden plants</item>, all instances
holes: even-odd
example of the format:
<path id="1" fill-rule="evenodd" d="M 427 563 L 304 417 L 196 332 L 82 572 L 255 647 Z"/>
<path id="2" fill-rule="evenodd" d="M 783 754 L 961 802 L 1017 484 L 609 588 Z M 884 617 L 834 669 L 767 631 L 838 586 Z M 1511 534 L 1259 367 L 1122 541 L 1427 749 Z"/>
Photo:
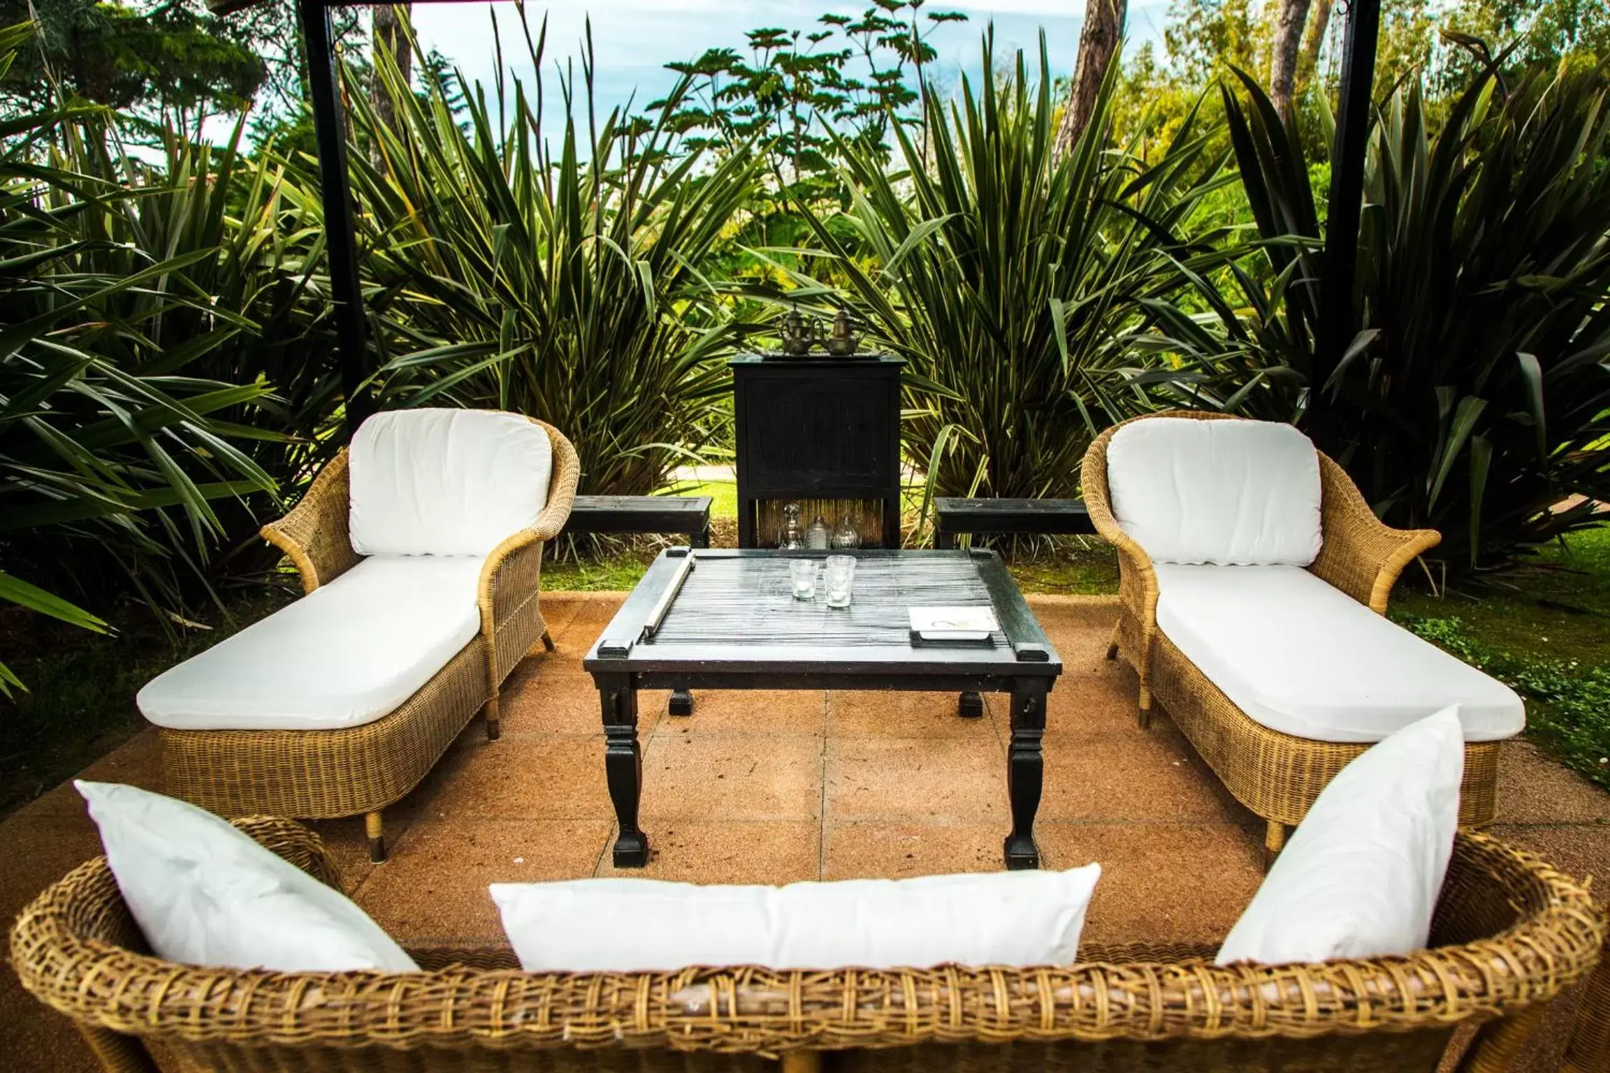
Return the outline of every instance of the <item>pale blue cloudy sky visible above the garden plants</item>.
<path id="1" fill-rule="evenodd" d="M 745 51 L 744 34 L 760 26 L 810 29 L 819 14 L 834 11 L 860 14 L 865 3 L 787 3 L 784 0 L 591 0 L 591 3 L 538 5 L 526 11 L 535 27 L 547 14 L 549 90 L 557 90 L 552 61 L 578 53 L 584 19 L 592 19 L 597 53 L 596 85 L 599 111 L 607 111 L 636 92 L 639 106 L 655 100 L 675 79 L 667 63 L 692 60 L 705 48 L 731 47 Z M 979 35 L 995 23 L 997 55 L 1037 48 L 1045 27 L 1051 68 L 1066 74 L 1079 51 L 1084 0 L 969 0 L 943 3 L 929 0 L 929 10 L 964 11 L 966 23 L 943 24 L 929 39 L 939 51 L 939 77 L 979 69 Z M 1130 0 L 1129 42 L 1161 40 L 1167 0 Z M 414 26 L 425 48 L 438 48 L 472 79 L 491 84 L 493 29 L 499 18 L 504 56 L 510 74 L 530 80 L 523 61 L 518 18 L 514 3 L 415 3 Z M 1008 47 L 1008 48 L 1003 48 Z M 522 63 L 512 63 L 518 56 Z M 580 71 L 580 63 L 576 64 Z"/>

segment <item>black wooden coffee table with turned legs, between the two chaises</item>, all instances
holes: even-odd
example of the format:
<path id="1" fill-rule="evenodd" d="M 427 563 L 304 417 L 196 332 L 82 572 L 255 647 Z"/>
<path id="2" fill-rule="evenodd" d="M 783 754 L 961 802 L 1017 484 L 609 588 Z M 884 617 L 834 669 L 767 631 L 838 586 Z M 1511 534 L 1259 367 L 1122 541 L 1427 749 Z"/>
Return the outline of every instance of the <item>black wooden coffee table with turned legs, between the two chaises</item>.
<path id="1" fill-rule="evenodd" d="M 982 714 L 980 692 L 1011 695 L 1006 867 L 1035 869 L 1045 695 L 1063 661 L 1000 557 L 989 550 L 863 550 L 848 608 L 795 600 L 789 558 L 824 552 L 670 549 L 588 650 L 583 666 L 604 708 L 604 771 L 620 833 L 615 865 L 649 862 L 638 827 L 641 689 L 955 690 L 960 714 Z M 913 645 L 906 608 L 990 605 L 989 645 Z"/>

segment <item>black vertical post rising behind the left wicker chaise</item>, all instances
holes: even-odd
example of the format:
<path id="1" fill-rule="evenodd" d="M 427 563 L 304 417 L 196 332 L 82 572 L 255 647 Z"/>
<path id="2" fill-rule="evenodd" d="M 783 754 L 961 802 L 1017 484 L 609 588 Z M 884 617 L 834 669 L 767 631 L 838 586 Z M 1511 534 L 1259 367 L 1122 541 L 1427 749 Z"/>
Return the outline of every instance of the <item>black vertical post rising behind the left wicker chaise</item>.
<path id="1" fill-rule="evenodd" d="M 346 175 L 346 122 L 341 116 L 341 74 L 335 58 L 330 8 L 320 0 L 298 0 L 303 43 L 308 50 L 308 92 L 319 145 L 319 185 L 324 199 L 324 238 L 330 256 L 330 298 L 335 301 L 335 341 L 346 396 L 346 436 L 375 412 L 364 346 L 364 296 L 357 283 L 357 228 L 353 190 Z"/>

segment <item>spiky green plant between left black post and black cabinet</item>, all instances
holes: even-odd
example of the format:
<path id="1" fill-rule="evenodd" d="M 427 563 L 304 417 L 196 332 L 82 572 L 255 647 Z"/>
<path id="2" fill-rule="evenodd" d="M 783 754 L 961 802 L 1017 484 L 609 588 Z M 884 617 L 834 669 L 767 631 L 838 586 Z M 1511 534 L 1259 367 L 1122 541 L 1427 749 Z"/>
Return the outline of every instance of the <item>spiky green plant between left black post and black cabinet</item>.
<path id="1" fill-rule="evenodd" d="M 528 45 L 541 71 L 541 37 Z M 671 154 L 686 84 L 652 124 L 610 113 L 594 125 L 589 64 L 575 101 L 586 134 L 567 85 L 554 159 L 541 105 L 518 82 L 506 100 L 501 71 L 507 124 L 456 76 L 460 127 L 441 84 L 419 98 L 388 56 L 378 64 L 399 129 L 353 101 L 357 132 L 378 146 L 354 180 L 388 347 L 383 402 L 539 417 L 576 444 L 586 491 L 662 487 L 718 423 L 720 359 L 742 325 L 700 267 L 752 193 L 755 162 Z"/>

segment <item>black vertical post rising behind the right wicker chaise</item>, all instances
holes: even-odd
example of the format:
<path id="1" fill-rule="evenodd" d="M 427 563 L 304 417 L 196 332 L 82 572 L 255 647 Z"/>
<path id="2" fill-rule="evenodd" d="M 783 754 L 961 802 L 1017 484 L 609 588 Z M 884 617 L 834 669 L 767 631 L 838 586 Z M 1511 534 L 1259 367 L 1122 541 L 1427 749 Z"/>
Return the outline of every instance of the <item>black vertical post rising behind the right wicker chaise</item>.
<path id="1" fill-rule="evenodd" d="M 1359 212 L 1364 206 L 1364 159 L 1368 153 L 1373 108 L 1375 43 L 1381 26 L 1381 0 L 1348 0 L 1348 27 L 1341 51 L 1341 101 L 1336 108 L 1336 145 L 1330 158 L 1330 211 L 1325 225 L 1325 291 L 1314 378 L 1309 386 L 1311 420 L 1323 409 L 1325 380 L 1357 335 L 1352 280 L 1359 262 Z"/>

